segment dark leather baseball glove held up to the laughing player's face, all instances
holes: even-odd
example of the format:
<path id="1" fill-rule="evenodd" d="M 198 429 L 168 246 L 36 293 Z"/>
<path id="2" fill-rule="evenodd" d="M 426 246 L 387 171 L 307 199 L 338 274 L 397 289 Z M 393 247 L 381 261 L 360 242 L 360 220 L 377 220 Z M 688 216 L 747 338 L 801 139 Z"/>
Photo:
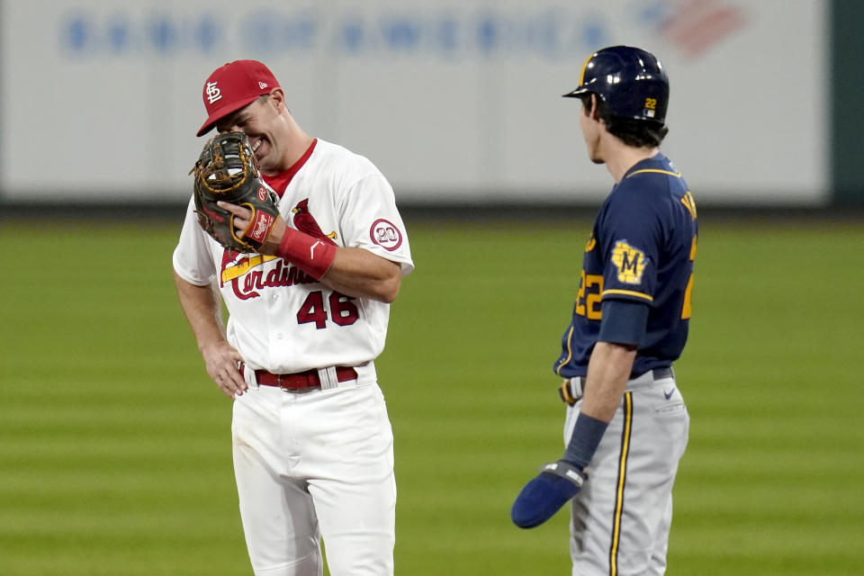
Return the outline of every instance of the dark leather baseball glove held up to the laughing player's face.
<path id="1" fill-rule="evenodd" d="M 195 213 L 202 229 L 229 250 L 257 251 L 270 236 L 279 208 L 276 194 L 258 177 L 246 134 L 222 132 L 207 140 L 189 174 L 194 174 Z M 220 200 L 252 211 L 251 223 L 239 236 L 234 214 L 216 205 Z"/>

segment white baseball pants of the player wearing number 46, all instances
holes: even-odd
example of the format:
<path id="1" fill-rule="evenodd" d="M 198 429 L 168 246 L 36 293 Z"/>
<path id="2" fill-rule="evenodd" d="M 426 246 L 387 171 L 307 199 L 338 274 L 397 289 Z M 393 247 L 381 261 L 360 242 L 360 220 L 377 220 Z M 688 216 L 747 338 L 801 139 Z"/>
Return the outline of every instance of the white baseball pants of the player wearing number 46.
<path id="1" fill-rule="evenodd" d="M 257 576 L 390 576 L 395 543 L 393 437 L 377 383 L 234 402 L 234 471 Z"/>

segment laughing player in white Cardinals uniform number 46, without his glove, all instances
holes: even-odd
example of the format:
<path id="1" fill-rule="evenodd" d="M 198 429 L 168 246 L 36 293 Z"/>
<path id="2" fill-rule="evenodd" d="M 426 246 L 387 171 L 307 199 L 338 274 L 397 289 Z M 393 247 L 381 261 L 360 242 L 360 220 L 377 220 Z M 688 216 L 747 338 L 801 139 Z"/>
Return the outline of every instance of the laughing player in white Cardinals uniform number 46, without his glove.
<path id="1" fill-rule="evenodd" d="M 189 203 L 174 253 L 207 374 L 233 400 L 240 517 L 259 576 L 393 573 L 392 428 L 375 375 L 414 265 L 391 185 L 365 157 L 307 135 L 261 62 L 204 83 L 212 128 L 247 134 L 281 217 L 259 254 L 220 246 Z M 233 212 L 238 236 L 250 211 Z M 221 321 L 220 299 L 229 312 Z"/>

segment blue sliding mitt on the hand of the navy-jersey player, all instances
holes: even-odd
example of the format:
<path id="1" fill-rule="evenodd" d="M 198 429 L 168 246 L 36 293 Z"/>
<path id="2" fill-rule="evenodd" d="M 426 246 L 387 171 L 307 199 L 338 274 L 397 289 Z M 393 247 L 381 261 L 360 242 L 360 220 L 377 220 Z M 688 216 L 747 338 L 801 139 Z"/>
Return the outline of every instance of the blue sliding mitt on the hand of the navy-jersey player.
<path id="1" fill-rule="evenodd" d="M 552 518 L 579 493 L 588 474 L 563 460 L 546 464 L 540 474 L 519 492 L 510 518 L 520 528 L 533 528 Z"/>

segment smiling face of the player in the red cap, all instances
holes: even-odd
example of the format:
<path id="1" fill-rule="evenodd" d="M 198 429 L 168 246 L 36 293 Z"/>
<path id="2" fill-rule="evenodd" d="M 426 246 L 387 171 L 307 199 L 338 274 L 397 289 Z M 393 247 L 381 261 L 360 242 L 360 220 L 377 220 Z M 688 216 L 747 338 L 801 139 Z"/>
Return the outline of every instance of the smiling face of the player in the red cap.
<path id="1" fill-rule="evenodd" d="M 280 130 L 284 130 L 283 111 L 284 95 L 281 90 L 275 90 L 221 118 L 216 122 L 216 130 L 246 134 L 261 172 L 275 175 L 285 168 L 282 166 L 284 139 L 279 136 Z"/>

